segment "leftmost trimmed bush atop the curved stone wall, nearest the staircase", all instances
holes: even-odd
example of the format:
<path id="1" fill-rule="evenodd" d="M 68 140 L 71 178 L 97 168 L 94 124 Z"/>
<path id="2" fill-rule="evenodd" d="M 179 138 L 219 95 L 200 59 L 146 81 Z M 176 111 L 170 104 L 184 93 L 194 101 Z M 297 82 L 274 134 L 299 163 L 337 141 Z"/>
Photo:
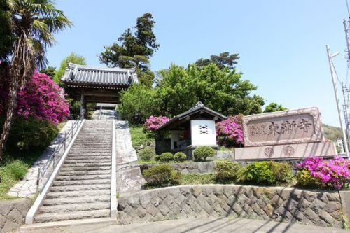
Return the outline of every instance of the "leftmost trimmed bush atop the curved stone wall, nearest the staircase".
<path id="1" fill-rule="evenodd" d="M 179 185 L 181 173 L 169 164 L 160 164 L 142 171 L 148 185 Z"/>

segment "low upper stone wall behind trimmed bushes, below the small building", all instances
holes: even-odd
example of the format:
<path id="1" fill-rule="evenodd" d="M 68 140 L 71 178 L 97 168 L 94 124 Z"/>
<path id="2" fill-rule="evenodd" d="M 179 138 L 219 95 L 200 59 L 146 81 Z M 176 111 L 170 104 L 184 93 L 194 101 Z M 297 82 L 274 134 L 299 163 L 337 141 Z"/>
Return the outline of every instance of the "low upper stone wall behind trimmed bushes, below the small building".
<path id="1" fill-rule="evenodd" d="M 177 171 L 181 171 L 182 174 L 199 174 L 199 173 L 212 173 L 214 172 L 216 162 L 183 162 L 183 163 L 175 163 L 169 164 L 174 167 Z M 141 170 L 149 169 L 151 167 L 155 167 L 159 164 L 142 164 L 140 165 Z"/>

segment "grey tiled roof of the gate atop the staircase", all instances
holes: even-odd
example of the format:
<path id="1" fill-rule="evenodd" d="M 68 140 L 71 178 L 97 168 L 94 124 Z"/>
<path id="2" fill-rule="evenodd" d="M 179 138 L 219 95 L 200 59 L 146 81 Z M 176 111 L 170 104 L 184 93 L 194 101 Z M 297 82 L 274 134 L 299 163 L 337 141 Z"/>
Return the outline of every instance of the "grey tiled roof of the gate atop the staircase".
<path id="1" fill-rule="evenodd" d="M 83 66 L 69 62 L 62 78 L 69 85 L 129 86 L 138 83 L 134 68 Z"/>

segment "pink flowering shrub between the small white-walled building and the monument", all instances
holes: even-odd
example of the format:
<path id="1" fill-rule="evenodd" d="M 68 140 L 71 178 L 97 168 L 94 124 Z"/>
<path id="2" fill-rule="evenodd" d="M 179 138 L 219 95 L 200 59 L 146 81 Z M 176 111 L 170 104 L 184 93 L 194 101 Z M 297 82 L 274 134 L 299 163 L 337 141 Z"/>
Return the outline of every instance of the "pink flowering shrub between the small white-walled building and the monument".
<path id="1" fill-rule="evenodd" d="M 243 145 L 241 115 L 230 116 L 228 119 L 216 123 L 216 140 L 221 146 Z"/>

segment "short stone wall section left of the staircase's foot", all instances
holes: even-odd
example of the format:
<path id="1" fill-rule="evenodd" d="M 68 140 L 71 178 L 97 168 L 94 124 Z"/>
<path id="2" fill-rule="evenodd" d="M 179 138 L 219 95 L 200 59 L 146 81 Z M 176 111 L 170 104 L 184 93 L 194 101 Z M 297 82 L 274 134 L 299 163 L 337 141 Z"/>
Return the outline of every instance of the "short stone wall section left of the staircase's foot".
<path id="1" fill-rule="evenodd" d="M 30 199 L 0 201 L 0 232 L 16 230 L 25 223 L 25 216 L 30 206 Z"/>

